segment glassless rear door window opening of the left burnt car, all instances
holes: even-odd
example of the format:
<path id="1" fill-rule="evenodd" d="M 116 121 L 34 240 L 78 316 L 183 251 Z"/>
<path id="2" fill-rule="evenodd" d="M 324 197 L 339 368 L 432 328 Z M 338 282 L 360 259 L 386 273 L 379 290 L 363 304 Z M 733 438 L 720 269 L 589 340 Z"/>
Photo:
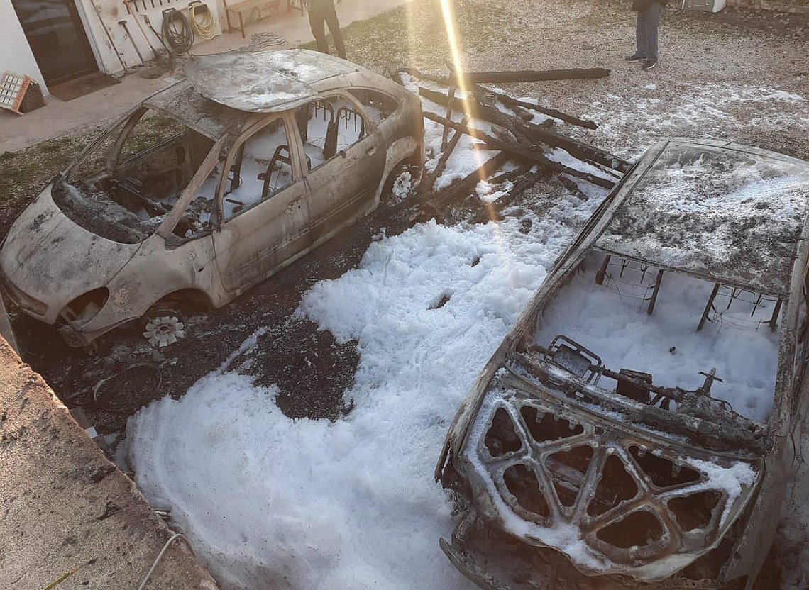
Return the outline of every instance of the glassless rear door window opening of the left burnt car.
<path id="1" fill-rule="evenodd" d="M 366 136 L 366 122 L 354 103 L 340 97 L 315 100 L 295 111 L 307 169 L 345 153 Z"/>

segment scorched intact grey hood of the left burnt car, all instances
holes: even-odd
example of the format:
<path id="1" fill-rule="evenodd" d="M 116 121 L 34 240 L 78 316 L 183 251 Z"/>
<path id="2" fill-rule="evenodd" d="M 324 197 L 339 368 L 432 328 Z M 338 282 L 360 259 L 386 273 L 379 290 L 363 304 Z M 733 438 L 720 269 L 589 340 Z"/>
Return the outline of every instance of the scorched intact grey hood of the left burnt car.
<path id="1" fill-rule="evenodd" d="M 16 289 L 47 303 L 55 319 L 74 297 L 107 284 L 140 246 L 112 242 L 76 225 L 53 202 L 49 186 L 11 226 L 0 268 Z"/>

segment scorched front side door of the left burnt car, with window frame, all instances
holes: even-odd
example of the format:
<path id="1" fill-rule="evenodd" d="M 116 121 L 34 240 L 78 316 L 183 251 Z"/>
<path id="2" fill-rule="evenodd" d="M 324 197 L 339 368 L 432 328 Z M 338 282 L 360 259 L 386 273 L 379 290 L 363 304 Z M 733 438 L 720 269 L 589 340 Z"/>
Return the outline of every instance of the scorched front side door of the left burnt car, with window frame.
<path id="1" fill-rule="evenodd" d="M 235 158 L 238 157 L 241 146 L 244 145 L 244 143 L 256 133 L 259 133 L 261 129 L 264 129 L 267 125 L 278 119 L 282 120 L 286 130 L 286 141 L 290 150 L 293 182 L 290 183 L 290 185 L 288 185 L 286 188 L 283 188 L 280 192 L 273 194 L 273 196 L 269 197 L 268 199 L 260 200 L 226 220 L 224 218 L 223 200 L 228 193 L 225 189 L 227 184 L 231 182 L 231 180 L 228 178 L 230 176 L 231 166 L 233 166 Z M 214 221 L 214 258 L 216 259 L 216 266 L 219 270 L 220 279 L 222 280 L 222 288 L 229 293 L 235 293 L 235 295 L 238 295 L 239 293 L 244 292 L 244 290 L 250 288 L 253 284 L 259 283 L 261 280 L 265 280 L 268 276 L 271 276 L 281 268 L 284 268 L 286 265 L 292 263 L 295 259 L 298 259 L 311 249 L 309 204 L 307 200 L 306 184 L 304 182 L 306 175 L 304 170 L 305 166 L 303 166 L 303 157 L 301 155 L 303 148 L 299 145 L 300 138 L 295 138 L 297 136 L 297 132 L 298 128 L 294 123 L 294 117 L 292 116 L 291 111 L 273 112 L 256 116 L 252 122 L 249 122 L 244 126 L 242 132 L 239 133 L 239 135 L 235 138 L 231 144 L 231 149 L 225 158 L 224 166 L 222 167 L 222 178 L 219 179 L 219 185 L 215 198 L 215 209 L 217 214 L 216 220 Z M 279 197 L 281 198 L 279 199 Z M 286 203 L 286 200 L 289 200 L 290 203 Z M 282 203 L 284 203 L 283 206 L 281 206 Z M 294 215 L 294 219 L 298 221 L 305 218 L 305 222 L 299 224 L 301 231 L 296 235 L 294 240 L 291 242 L 290 240 L 287 240 L 280 246 L 288 249 L 288 255 L 282 255 L 277 260 L 277 263 L 269 263 L 267 261 L 273 251 L 278 250 L 279 247 L 277 245 L 260 245 L 260 247 L 258 247 L 252 255 L 248 255 L 251 248 L 246 244 L 239 243 L 247 236 L 241 234 L 236 225 L 232 225 L 234 223 L 239 225 L 250 225 L 247 221 L 245 221 L 249 218 L 254 220 L 253 225 L 255 226 L 263 225 L 257 223 L 255 220 L 265 219 L 265 221 L 273 221 L 273 217 L 269 215 L 269 212 L 266 211 L 269 204 L 272 204 L 272 208 L 278 209 L 277 213 L 280 213 L 280 216 L 277 217 L 275 221 L 289 215 Z M 257 210 L 260 208 L 265 209 L 264 216 L 256 217 Z M 228 227 L 229 224 L 231 224 L 230 227 Z M 231 232 L 231 235 L 227 236 L 226 232 Z M 231 238 L 230 244 L 227 244 L 228 237 Z M 255 271 L 239 272 L 238 268 L 231 268 L 230 262 L 232 262 L 233 259 L 227 257 L 227 253 L 230 253 L 234 251 L 235 248 L 239 247 L 244 249 L 241 255 L 242 262 L 239 264 L 239 268 L 242 268 L 244 271 L 246 268 L 257 264 Z M 236 255 L 234 258 L 239 258 L 239 255 Z M 243 279 L 238 278 L 239 276 L 243 275 Z"/>

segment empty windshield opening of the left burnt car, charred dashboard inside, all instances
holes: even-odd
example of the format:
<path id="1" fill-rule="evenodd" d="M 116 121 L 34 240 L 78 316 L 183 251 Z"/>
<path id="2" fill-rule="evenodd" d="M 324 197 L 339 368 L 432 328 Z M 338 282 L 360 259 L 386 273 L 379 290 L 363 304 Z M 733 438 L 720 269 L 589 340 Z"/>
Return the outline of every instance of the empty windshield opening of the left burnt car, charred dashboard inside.
<path id="1" fill-rule="evenodd" d="M 142 242 L 172 210 L 213 145 L 180 120 L 139 108 L 54 184 L 53 200 L 95 234 Z"/>

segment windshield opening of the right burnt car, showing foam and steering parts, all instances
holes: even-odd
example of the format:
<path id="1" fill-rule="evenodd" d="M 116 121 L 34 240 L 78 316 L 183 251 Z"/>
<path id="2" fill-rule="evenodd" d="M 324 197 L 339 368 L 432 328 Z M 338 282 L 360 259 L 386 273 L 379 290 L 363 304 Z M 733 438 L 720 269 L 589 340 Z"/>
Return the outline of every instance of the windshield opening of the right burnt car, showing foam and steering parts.
<path id="1" fill-rule="evenodd" d="M 702 394 L 765 424 L 781 300 L 631 259 L 590 255 L 537 322 L 536 350 L 626 398 L 676 411 Z"/>

